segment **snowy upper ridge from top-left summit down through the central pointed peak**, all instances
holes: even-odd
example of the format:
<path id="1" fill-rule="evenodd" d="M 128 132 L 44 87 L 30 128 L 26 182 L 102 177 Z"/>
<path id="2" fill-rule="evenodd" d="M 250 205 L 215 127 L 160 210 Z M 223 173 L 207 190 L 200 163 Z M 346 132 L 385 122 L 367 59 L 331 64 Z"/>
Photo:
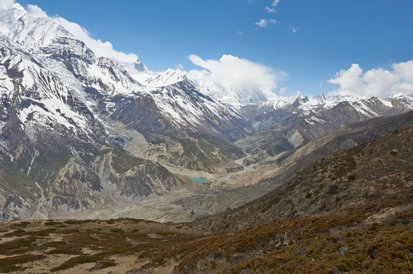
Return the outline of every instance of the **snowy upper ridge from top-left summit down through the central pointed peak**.
<path id="1" fill-rule="evenodd" d="M 127 63 L 98 56 L 53 19 L 36 18 L 19 4 L 8 10 L 1 10 L 0 22 L 1 33 L 35 54 L 39 62 L 47 65 L 56 75 L 68 80 L 70 89 L 74 89 L 74 93 L 83 97 L 83 100 L 87 100 L 84 93 L 93 95 L 94 99 L 105 100 L 116 95 L 132 98 L 149 96 L 162 116 L 178 128 L 199 128 L 200 125 L 207 128 L 205 124 L 213 126 L 213 123 L 204 121 L 209 114 L 215 115 L 215 119 L 240 119 L 231 107 L 201 94 L 182 71 L 168 69 L 154 73 L 139 60 Z M 186 93 L 182 90 L 178 92 L 175 89 L 175 92 L 171 93 L 165 88 L 160 89 L 179 82 L 184 83 L 179 85 L 182 89 L 190 89 L 195 97 L 181 96 Z M 200 108 L 200 101 L 195 100 L 198 98 L 205 104 L 204 109 Z M 218 113 L 224 115 L 219 117 Z M 216 128 L 208 130 L 217 136 L 223 136 Z"/>

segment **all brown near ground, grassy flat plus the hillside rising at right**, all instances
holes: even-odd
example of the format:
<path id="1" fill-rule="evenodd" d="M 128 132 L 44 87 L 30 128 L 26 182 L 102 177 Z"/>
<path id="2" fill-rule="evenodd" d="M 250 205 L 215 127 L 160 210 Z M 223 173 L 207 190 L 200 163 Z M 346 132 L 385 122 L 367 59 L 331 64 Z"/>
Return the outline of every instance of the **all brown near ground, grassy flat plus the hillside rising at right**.
<path id="1" fill-rule="evenodd" d="M 409 112 L 335 130 L 298 149 L 318 152 L 275 190 L 193 222 L 0 222 L 0 271 L 410 273 L 412 123 Z"/>

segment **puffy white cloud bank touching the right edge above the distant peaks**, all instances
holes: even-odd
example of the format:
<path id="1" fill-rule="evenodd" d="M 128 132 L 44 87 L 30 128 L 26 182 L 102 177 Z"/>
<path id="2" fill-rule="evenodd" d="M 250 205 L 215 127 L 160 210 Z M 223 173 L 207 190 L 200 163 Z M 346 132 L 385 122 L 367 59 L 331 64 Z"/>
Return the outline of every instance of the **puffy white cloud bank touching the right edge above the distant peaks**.
<path id="1" fill-rule="evenodd" d="M 396 93 L 413 93 L 413 60 L 392 65 L 390 70 L 370 69 L 363 72 L 358 64 L 341 70 L 330 84 L 339 85 L 332 94 L 356 95 L 360 98 L 386 98 Z"/>

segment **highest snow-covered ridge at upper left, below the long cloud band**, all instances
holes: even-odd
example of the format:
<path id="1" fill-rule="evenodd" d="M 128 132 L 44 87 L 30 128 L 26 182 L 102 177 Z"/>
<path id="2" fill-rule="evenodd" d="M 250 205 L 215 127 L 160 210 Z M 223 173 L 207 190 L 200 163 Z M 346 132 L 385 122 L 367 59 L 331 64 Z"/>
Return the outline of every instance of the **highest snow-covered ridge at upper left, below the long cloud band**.
<path id="1" fill-rule="evenodd" d="M 36 55 L 40 62 L 46 65 L 50 60 L 59 61 L 59 64 L 47 63 L 58 74 L 67 69 L 82 84 L 100 89 L 105 95 L 131 93 L 140 87 L 128 73 L 128 70 L 146 69 L 139 60 L 129 64 L 98 56 L 49 17 L 35 17 L 14 4 L 14 8 L 0 10 L 0 22 L 0 32 Z M 59 68 L 61 63 L 65 68 Z"/>

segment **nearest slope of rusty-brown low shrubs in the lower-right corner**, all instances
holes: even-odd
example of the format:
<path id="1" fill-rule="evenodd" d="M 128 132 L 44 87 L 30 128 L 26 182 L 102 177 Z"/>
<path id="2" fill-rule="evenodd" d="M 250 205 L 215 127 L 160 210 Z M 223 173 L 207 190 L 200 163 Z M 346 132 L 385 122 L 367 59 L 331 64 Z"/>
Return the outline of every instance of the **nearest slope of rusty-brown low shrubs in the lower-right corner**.
<path id="1" fill-rule="evenodd" d="M 211 236 L 164 251 L 147 267 L 174 259 L 178 273 L 412 273 L 412 207 L 366 222 L 377 208 L 374 203 Z"/>

